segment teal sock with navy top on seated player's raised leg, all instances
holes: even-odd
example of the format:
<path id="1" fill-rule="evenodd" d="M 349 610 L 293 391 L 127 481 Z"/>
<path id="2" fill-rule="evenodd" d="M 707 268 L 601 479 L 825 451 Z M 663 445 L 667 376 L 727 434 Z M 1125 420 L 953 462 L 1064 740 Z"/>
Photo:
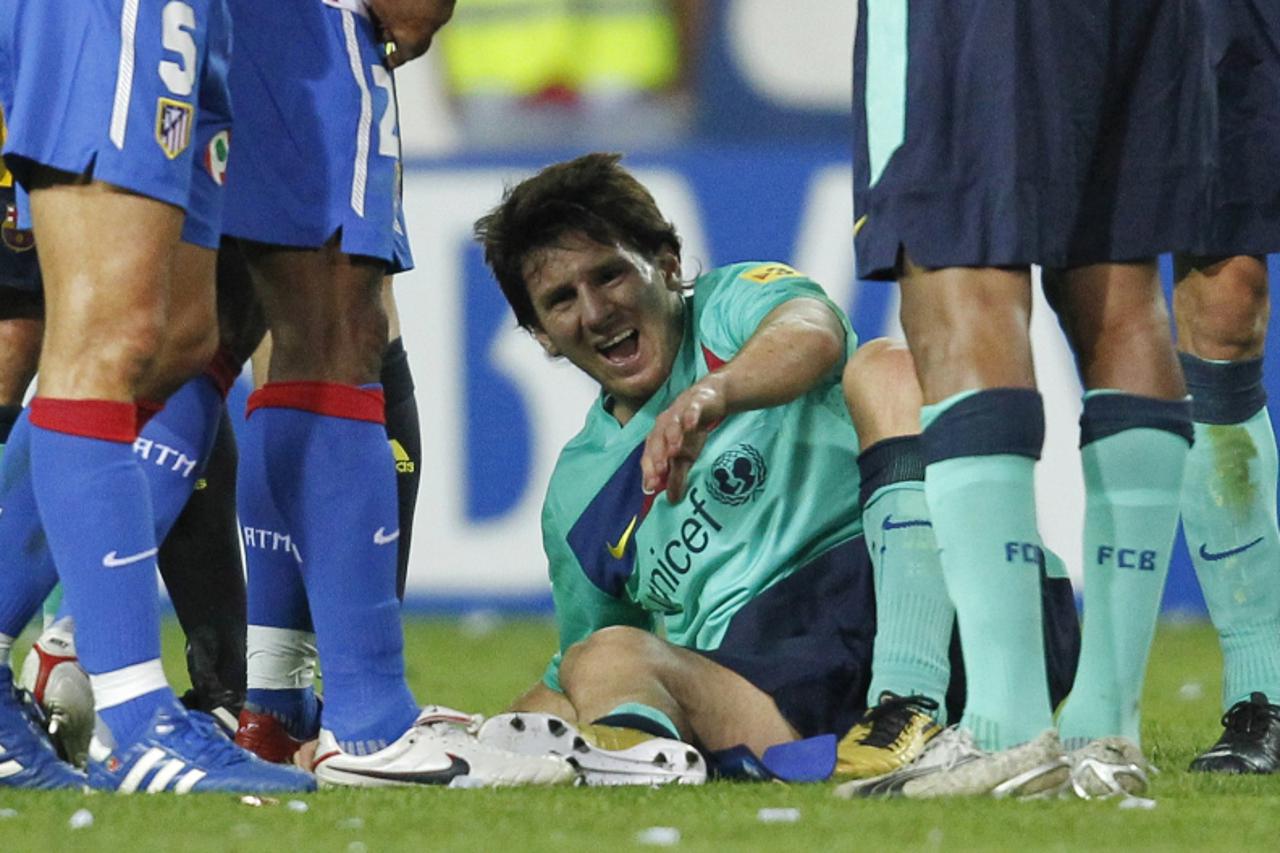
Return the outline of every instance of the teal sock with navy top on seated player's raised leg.
<path id="1" fill-rule="evenodd" d="M 925 695 L 946 721 L 947 652 L 955 608 L 947 597 L 924 498 L 919 437 L 877 442 L 858 457 L 863 528 L 876 578 L 876 643 L 867 704 L 882 693 Z"/>

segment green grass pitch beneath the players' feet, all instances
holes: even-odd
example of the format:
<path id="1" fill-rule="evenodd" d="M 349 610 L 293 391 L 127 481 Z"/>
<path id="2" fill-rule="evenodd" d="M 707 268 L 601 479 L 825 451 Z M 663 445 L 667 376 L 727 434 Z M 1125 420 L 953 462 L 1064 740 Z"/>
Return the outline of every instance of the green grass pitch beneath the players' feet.
<path id="1" fill-rule="evenodd" d="M 180 638 L 166 666 L 184 684 Z M 554 644 L 544 621 L 410 621 L 420 698 L 495 712 L 529 686 Z M 20 661 L 20 656 L 15 656 Z M 45 850 L 548 850 L 654 849 L 637 835 L 678 833 L 677 850 L 1275 849 L 1280 779 L 1192 775 L 1219 734 L 1220 658 L 1202 624 L 1166 624 L 1152 652 L 1144 743 L 1161 774 L 1155 808 L 1110 802 L 846 802 L 832 785 L 712 784 L 657 790 L 337 790 L 250 807 L 230 795 L 111 797 L 0 789 L 0 852 Z M 794 808 L 795 822 L 762 822 Z M 70 829 L 78 809 L 92 826 Z M 669 836 L 668 836 L 669 839 Z"/>

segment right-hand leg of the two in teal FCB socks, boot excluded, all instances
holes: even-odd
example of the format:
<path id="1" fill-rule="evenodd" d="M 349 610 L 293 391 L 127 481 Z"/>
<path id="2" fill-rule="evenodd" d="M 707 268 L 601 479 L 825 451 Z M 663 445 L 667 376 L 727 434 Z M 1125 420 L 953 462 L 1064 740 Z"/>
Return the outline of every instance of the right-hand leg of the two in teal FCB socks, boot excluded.
<path id="1" fill-rule="evenodd" d="M 1189 407 L 1155 263 L 1044 275 L 1089 393 L 1084 466 L 1084 631 L 1059 717 L 1069 745 L 1138 743 L 1142 684 L 1178 525 Z"/>

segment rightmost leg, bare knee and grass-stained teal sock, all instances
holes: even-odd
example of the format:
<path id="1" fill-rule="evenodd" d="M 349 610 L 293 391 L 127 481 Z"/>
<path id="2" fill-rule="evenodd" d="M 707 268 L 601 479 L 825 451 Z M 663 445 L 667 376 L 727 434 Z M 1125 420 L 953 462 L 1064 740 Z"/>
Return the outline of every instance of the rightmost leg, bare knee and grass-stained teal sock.
<path id="1" fill-rule="evenodd" d="M 1183 529 L 1222 648 L 1222 708 L 1252 703 L 1254 693 L 1274 704 L 1280 702 L 1280 530 L 1276 439 L 1262 384 L 1271 307 L 1266 261 L 1176 257 L 1175 273 L 1178 347 L 1196 429 Z M 1265 736 L 1248 731 L 1247 738 Z M 1215 748 L 1220 754 L 1192 768 L 1275 770 L 1274 758 L 1257 767 L 1238 749 L 1238 740 Z"/>

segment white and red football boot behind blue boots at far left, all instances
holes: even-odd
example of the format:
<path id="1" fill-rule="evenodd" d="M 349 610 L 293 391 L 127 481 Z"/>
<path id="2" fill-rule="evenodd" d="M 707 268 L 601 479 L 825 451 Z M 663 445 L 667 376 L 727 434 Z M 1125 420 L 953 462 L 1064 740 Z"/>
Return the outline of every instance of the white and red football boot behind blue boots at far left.
<path id="1" fill-rule="evenodd" d="M 41 631 L 22 662 L 18 686 L 40 706 L 58 754 L 84 766 L 93 736 L 93 688 L 76 654 L 76 624 L 64 616 Z"/>

